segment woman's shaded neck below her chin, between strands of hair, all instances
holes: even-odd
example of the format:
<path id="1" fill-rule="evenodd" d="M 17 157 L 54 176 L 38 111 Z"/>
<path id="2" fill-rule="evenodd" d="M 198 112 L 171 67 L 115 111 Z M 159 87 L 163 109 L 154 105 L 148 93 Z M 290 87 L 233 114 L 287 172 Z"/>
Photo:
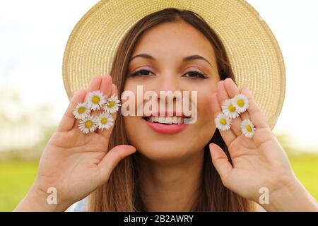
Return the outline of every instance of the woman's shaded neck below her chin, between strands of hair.
<path id="1" fill-rule="evenodd" d="M 204 150 L 170 165 L 141 158 L 142 199 L 148 211 L 190 211 L 201 186 Z"/>

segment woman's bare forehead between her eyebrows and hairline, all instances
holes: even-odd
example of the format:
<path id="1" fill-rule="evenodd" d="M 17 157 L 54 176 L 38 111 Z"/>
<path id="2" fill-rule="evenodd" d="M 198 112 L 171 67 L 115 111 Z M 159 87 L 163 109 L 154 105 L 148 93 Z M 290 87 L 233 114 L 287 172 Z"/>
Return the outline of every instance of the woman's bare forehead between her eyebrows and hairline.
<path id="1" fill-rule="evenodd" d="M 201 54 L 214 58 L 213 47 L 206 37 L 185 22 L 163 23 L 146 30 L 136 43 L 134 54 Z"/>

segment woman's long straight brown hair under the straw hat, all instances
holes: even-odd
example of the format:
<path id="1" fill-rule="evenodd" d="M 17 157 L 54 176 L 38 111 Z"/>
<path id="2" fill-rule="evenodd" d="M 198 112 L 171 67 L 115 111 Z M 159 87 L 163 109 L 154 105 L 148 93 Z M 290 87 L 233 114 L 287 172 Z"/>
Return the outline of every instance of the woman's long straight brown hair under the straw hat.
<path id="1" fill-rule="evenodd" d="M 139 37 L 155 25 L 162 23 L 172 23 L 184 21 L 199 30 L 209 42 L 211 42 L 216 54 L 216 61 L 220 80 L 225 78 L 235 78 L 232 73 L 225 47 L 218 38 L 216 32 L 204 21 L 197 13 L 177 8 L 165 8 L 161 11 L 151 13 L 141 18 L 124 36 L 119 44 L 112 70 L 113 83 L 117 85 L 119 94 L 124 89 L 126 73 L 128 70 L 129 59 L 134 50 Z M 109 148 L 119 144 L 129 144 L 126 133 L 124 132 L 124 120 L 121 114 L 117 114 L 116 124 L 112 136 L 110 137 Z M 228 147 L 218 130 L 214 133 L 209 143 L 218 144 L 230 159 Z M 146 207 L 143 205 L 140 196 L 139 178 L 137 175 L 139 153 L 135 153 L 119 162 L 112 172 L 110 179 L 100 188 L 96 189 L 90 195 L 90 211 L 143 211 Z M 252 210 L 252 205 L 247 199 L 238 196 L 223 186 L 220 176 L 211 162 L 211 155 L 208 149 L 208 143 L 204 148 L 204 165 L 202 171 L 201 191 L 193 211 L 248 211 Z"/>

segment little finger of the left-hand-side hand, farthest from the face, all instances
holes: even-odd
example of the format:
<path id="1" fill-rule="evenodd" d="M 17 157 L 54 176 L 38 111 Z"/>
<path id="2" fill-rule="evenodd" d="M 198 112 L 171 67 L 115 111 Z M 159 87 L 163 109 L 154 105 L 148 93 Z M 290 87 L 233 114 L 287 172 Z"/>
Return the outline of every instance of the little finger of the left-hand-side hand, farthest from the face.
<path id="1" fill-rule="evenodd" d="M 59 126 L 57 127 L 58 132 L 66 132 L 73 129 L 74 123 L 76 121 L 73 115 L 73 109 L 79 102 L 83 102 L 85 100 L 86 90 L 78 90 L 69 103 L 69 107 L 67 107 L 66 112 L 64 113 Z"/>

